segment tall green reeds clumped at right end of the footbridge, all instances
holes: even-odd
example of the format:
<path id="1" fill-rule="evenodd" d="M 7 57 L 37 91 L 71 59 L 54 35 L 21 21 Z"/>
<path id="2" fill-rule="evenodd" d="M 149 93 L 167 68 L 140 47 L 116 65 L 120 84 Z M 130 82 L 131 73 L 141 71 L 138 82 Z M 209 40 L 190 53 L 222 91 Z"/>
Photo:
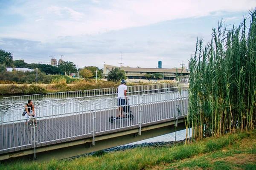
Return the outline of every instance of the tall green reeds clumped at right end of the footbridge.
<path id="1" fill-rule="evenodd" d="M 256 11 L 227 30 L 222 20 L 212 40 L 197 40 L 190 60 L 189 116 L 193 138 L 256 125 Z"/>

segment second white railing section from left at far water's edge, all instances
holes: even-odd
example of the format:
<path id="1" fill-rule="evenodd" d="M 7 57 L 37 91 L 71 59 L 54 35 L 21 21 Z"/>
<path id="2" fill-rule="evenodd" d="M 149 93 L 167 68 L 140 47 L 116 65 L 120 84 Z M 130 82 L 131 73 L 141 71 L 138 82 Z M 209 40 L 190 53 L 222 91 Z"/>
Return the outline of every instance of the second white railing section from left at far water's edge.
<path id="1" fill-rule="evenodd" d="M 81 97 L 82 91 L 65 91 L 58 93 L 48 93 L 46 94 L 47 98 L 54 99 L 63 99 L 63 98 L 73 98 L 73 97 Z"/>

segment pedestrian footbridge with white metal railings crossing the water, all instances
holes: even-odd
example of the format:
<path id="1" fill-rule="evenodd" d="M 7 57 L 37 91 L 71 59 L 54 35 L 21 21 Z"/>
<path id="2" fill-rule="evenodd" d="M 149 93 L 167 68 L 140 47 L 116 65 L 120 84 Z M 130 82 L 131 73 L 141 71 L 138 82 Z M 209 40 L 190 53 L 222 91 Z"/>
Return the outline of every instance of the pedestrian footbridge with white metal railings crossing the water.
<path id="1" fill-rule="evenodd" d="M 132 116 L 113 122 L 110 118 L 118 115 L 115 89 L 81 94 L 75 91 L 47 94 L 47 97 L 19 96 L 19 101 L 33 99 L 36 126 L 25 125 L 22 116 L 25 101 L 17 103 L 15 97 L 4 98 L 0 105 L 0 160 L 64 159 L 185 128 L 186 84 L 128 86 Z"/>

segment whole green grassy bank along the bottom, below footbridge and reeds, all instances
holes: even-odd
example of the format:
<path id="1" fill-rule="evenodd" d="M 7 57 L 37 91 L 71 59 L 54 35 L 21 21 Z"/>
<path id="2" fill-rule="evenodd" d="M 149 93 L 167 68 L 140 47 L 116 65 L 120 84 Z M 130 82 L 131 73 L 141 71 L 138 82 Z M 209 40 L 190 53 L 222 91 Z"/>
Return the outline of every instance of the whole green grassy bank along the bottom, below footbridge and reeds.
<path id="1" fill-rule="evenodd" d="M 142 170 L 142 169 L 256 169 L 256 130 L 207 138 L 179 146 L 139 147 L 132 150 L 48 163 L 0 164 L 10 170 Z"/>

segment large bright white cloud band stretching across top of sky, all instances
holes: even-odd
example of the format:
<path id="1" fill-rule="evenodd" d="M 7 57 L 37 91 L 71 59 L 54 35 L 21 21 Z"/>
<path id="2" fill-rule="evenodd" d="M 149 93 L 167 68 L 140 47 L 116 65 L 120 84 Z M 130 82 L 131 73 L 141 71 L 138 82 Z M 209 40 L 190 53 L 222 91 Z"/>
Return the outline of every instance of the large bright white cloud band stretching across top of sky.
<path id="1" fill-rule="evenodd" d="M 46 35 L 49 35 L 51 39 L 58 36 L 97 35 L 106 31 L 147 26 L 166 20 L 202 17 L 214 12 L 217 14 L 222 11 L 247 11 L 256 5 L 254 0 L 215 0 L 214 3 L 205 0 L 175 2 L 162 0 L 161 3 L 158 0 L 112 0 L 108 3 L 105 2 L 104 6 L 93 6 L 92 4 L 75 1 L 72 3 L 72 7 L 67 7 L 70 4 L 63 1 L 57 2 L 59 2 L 58 5 L 49 0 L 42 1 L 38 5 L 27 2 L 20 8 L 13 7 L 12 12 L 24 16 L 25 21 L 17 25 L 20 30 L 17 34 L 2 32 L 0 36 L 23 38 L 20 34 L 34 32 L 35 29 L 40 34 L 38 36 L 31 34 L 28 37 L 30 40 L 46 40 Z M 47 30 L 41 26 L 35 28 L 37 27 L 33 26 L 35 22 L 29 20 L 31 17 L 36 18 L 33 21 L 44 18 L 45 21 L 42 24 L 50 27 Z"/>

